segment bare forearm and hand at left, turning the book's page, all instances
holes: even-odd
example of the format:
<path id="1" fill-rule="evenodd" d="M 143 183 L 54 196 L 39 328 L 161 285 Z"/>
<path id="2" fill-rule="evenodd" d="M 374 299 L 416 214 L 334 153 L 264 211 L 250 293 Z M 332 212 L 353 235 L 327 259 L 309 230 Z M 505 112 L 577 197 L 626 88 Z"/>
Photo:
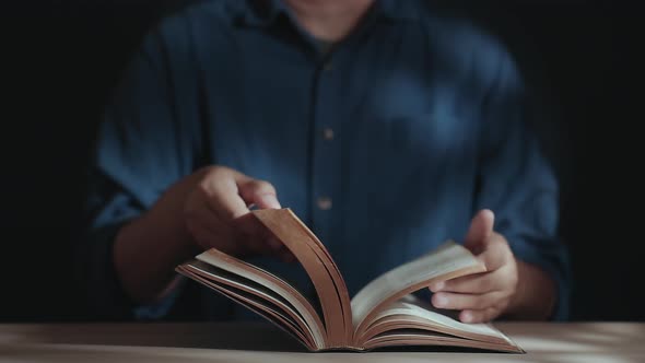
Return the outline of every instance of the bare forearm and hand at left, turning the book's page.
<path id="1" fill-rule="evenodd" d="M 126 292 L 143 304 L 165 297 L 175 267 L 211 247 L 233 256 L 292 260 L 250 216 L 249 204 L 281 208 L 269 183 L 223 166 L 201 168 L 173 185 L 116 237 L 114 262 Z"/>

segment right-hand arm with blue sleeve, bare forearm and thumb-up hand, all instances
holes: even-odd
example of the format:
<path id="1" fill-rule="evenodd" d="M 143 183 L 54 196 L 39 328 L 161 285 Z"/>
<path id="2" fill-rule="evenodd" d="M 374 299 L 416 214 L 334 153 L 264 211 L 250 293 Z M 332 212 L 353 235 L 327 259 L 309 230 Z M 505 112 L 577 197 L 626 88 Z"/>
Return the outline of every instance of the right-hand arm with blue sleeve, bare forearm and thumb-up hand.
<path id="1" fill-rule="evenodd" d="M 558 238 L 558 184 L 525 124 L 525 90 L 502 52 L 481 118 L 479 188 L 465 245 L 488 272 L 431 286 L 433 304 L 464 321 L 564 319 L 568 260 Z M 493 223 L 494 222 L 494 223 Z"/>

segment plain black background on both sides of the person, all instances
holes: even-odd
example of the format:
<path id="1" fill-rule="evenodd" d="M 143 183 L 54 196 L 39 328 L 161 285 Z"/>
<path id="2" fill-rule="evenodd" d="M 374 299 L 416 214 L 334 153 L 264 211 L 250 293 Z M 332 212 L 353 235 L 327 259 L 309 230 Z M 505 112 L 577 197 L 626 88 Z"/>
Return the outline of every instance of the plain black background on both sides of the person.
<path id="1" fill-rule="evenodd" d="M 187 2 L 0 5 L 0 321 L 92 319 L 72 245 L 94 132 L 141 36 Z M 562 183 L 573 318 L 645 320 L 640 11 L 626 1 L 457 5 L 508 44 L 539 91 L 533 124 Z"/>

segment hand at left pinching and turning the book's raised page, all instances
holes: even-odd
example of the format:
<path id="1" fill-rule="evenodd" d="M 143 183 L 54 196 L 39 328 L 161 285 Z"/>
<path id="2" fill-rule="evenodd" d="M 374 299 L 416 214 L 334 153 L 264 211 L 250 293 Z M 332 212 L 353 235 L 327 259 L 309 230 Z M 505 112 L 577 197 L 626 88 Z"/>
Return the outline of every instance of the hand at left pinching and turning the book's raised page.
<path id="1" fill-rule="evenodd" d="M 224 166 L 209 166 L 186 177 L 162 196 L 153 209 L 172 208 L 201 249 L 218 248 L 232 256 L 293 255 L 249 212 L 251 206 L 279 209 L 275 188 Z M 169 207 L 168 207 L 169 206 Z"/>

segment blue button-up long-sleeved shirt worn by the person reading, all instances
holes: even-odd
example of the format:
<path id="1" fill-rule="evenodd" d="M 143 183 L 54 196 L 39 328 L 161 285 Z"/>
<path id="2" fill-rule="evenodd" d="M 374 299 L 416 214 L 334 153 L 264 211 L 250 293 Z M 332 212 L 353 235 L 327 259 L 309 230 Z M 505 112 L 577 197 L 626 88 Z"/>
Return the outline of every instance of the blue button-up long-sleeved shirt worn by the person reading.
<path id="1" fill-rule="evenodd" d="M 179 178 L 222 164 L 275 186 L 330 250 L 351 295 L 460 241 L 476 211 L 490 208 L 515 255 L 556 282 L 553 318 L 565 318 L 558 184 L 526 126 L 526 92 L 504 47 L 422 0 L 376 1 L 331 51 L 319 46 L 279 1 L 207 1 L 146 36 L 97 140 L 84 247 L 99 308 L 124 301 L 110 254 L 118 227 Z M 296 267 L 254 262 L 312 291 Z M 248 316 L 203 290 L 204 318 Z M 159 316 L 171 305 L 138 312 Z"/>

